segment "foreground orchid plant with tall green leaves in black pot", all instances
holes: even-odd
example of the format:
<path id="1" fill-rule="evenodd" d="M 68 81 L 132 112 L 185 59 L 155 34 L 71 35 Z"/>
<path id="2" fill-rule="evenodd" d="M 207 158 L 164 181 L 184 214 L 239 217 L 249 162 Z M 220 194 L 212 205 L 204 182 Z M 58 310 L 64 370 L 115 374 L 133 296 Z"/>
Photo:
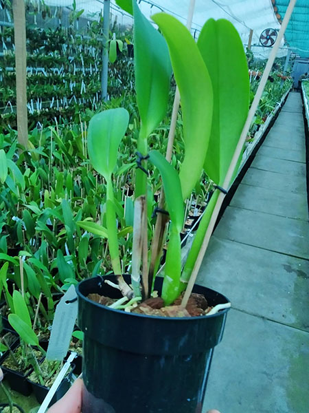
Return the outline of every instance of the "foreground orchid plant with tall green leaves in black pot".
<path id="1" fill-rule="evenodd" d="M 222 339 L 229 300 L 197 285 L 192 293 L 190 279 L 198 271 L 199 251 L 220 191 L 225 191 L 222 185 L 226 185 L 247 118 L 247 61 L 229 21 L 207 21 L 196 44 L 174 17 L 164 13 L 152 17 L 161 35 L 135 0 L 119 3 L 135 20 L 135 82 L 141 117 L 137 169 L 132 174 L 132 264 L 130 275 L 123 275 L 112 177 L 129 114 L 117 108 L 93 116 L 88 130 L 91 164 L 106 182 L 106 236 L 114 275 L 85 279 L 77 287 L 78 326 L 84 332 L 82 412 L 196 413 L 202 411 L 211 357 Z M 165 157 L 148 147 L 148 136 L 167 111 L 172 70 L 183 116 L 185 153 L 180 171 L 170 164 L 172 131 Z M 156 169 L 162 188 L 152 234 L 147 189 Z M 214 193 L 183 263 L 184 202 L 203 170 L 214 181 Z M 156 277 L 167 237 L 164 276 Z"/>

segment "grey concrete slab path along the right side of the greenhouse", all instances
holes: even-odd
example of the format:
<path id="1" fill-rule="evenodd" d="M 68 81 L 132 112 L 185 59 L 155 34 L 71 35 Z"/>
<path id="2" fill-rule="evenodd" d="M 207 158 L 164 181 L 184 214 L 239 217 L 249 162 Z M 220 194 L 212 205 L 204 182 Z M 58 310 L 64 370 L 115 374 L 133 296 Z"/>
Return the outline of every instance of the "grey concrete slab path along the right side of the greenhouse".
<path id="1" fill-rule="evenodd" d="M 231 299 L 205 410 L 309 412 L 309 228 L 301 96 L 291 92 L 216 229 L 199 284 Z"/>

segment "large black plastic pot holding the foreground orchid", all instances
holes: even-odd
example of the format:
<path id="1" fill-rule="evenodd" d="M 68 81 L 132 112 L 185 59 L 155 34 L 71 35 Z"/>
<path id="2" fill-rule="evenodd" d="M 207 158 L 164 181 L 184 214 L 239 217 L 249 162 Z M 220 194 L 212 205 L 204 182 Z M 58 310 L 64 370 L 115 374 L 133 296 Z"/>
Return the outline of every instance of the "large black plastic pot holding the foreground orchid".
<path id="1" fill-rule="evenodd" d="M 114 276 L 104 277 L 115 282 Z M 161 290 L 162 279 L 155 288 Z M 227 298 L 195 286 L 209 305 Z M 77 287 L 84 332 L 83 413 L 202 412 L 214 347 L 227 310 L 203 317 L 165 318 L 125 313 L 95 303 L 89 293 L 120 297 L 102 277 Z"/>

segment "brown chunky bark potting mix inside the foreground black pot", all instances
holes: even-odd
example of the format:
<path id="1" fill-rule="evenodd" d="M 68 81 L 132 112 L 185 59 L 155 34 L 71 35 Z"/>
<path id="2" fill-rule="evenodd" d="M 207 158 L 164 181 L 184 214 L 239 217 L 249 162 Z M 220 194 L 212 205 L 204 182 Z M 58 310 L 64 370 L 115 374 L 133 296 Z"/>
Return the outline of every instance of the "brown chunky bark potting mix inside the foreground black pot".
<path id="1" fill-rule="evenodd" d="M 103 306 L 110 306 L 117 301 L 99 294 L 89 294 L 87 298 Z M 164 301 L 161 297 L 149 298 L 132 308 L 130 312 L 155 317 L 198 317 L 206 315 L 212 308 L 208 306 L 204 295 L 192 293 L 185 308 L 181 306 L 182 298 L 183 294 L 170 306 L 164 306 Z"/>

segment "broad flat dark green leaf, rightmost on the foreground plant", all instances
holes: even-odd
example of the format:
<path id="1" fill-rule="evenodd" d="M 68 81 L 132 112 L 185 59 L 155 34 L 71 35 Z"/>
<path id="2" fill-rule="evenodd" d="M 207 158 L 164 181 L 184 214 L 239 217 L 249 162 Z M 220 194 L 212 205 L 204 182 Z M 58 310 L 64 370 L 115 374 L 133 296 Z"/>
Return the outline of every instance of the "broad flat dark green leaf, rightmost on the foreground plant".
<path id="1" fill-rule="evenodd" d="M 214 115 L 205 171 L 221 185 L 249 111 L 247 59 L 236 28 L 225 19 L 209 19 L 197 44 L 214 89 Z"/>

